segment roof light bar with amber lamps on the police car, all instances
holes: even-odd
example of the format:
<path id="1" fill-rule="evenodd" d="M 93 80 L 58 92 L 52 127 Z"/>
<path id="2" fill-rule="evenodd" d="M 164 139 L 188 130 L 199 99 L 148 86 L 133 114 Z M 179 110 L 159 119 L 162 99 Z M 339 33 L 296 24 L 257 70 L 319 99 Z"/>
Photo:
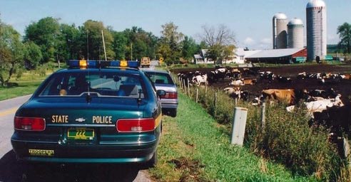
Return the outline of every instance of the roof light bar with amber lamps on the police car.
<path id="1" fill-rule="evenodd" d="M 138 68 L 136 60 L 68 60 L 69 68 Z"/>

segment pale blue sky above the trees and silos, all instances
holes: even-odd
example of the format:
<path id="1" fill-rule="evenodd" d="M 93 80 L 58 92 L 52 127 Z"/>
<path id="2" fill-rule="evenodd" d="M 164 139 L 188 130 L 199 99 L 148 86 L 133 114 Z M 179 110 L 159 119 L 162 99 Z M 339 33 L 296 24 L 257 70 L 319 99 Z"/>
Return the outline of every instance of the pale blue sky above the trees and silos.
<path id="1" fill-rule="evenodd" d="M 327 44 L 340 41 L 337 26 L 351 23 L 351 0 L 324 0 L 327 6 Z M 305 26 L 309 0 L 0 0 L 0 19 L 24 35 L 31 23 L 48 16 L 59 23 L 82 26 L 89 19 L 115 31 L 137 26 L 161 36 L 162 25 L 173 22 L 178 31 L 200 41 L 202 26 L 221 24 L 235 34 L 239 48 L 273 48 L 272 18 L 282 12 L 300 18 Z M 306 26 L 305 26 L 306 29 Z M 306 30 L 304 31 L 306 45 Z"/>

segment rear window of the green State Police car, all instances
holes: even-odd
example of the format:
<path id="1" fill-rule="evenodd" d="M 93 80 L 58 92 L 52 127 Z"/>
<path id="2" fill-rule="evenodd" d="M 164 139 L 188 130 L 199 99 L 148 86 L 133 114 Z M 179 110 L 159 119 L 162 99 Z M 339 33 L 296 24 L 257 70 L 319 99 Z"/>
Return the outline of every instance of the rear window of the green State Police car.
<path id="1" fill-rule="evenodd" d="M 94 92 L 102 97 L 142 97 L 139 75 L 116 73 L 58 73 L 46 82 L 39 96 L 81 96 Z"/>

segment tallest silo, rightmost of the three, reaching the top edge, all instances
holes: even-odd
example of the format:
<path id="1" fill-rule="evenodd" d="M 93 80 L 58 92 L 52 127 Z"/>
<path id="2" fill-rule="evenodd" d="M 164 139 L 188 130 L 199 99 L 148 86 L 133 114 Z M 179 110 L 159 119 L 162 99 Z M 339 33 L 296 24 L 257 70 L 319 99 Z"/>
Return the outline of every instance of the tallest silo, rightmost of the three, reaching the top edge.
<path id="1" fill-rule="evenodd" d="M 327 7 L 322 0 L 311 0 L 306 6 L 307 60 L 327 55 Z"/>

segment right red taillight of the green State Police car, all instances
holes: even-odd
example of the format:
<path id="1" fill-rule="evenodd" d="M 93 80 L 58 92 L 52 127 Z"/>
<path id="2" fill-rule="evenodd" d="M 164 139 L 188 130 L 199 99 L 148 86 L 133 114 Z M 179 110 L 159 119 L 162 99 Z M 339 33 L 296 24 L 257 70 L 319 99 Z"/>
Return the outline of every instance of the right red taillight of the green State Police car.
<path id="1" fill-rule="evenodd" d="M 155 129 L 155 119 L 118 119 L 116 129 L 118 132 L 150 132 Z"/>

